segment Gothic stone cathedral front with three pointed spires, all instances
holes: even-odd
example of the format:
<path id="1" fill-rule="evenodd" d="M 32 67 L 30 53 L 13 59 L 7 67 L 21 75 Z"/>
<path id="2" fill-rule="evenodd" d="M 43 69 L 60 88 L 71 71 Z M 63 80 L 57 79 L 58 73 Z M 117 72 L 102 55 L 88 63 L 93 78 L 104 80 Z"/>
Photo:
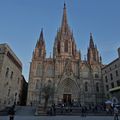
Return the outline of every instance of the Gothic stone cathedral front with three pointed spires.
<path id="1" fill-rule="evenodd" d="M 51 86 L 49 102 L 98 104 L 103 102 L 102 60 L 90 33 L 87 59 L 81 59 L 67 21 L 64 4 L 62 23 L 54 40 L 53 57 L 46 58 L 41 30 L 30 64 L 27 104 L 44 103 L 43 88 Z M 49 89 L 50 90 L 50 89 Z M 48 92 L 49 92 L 48 90 Z"/>

